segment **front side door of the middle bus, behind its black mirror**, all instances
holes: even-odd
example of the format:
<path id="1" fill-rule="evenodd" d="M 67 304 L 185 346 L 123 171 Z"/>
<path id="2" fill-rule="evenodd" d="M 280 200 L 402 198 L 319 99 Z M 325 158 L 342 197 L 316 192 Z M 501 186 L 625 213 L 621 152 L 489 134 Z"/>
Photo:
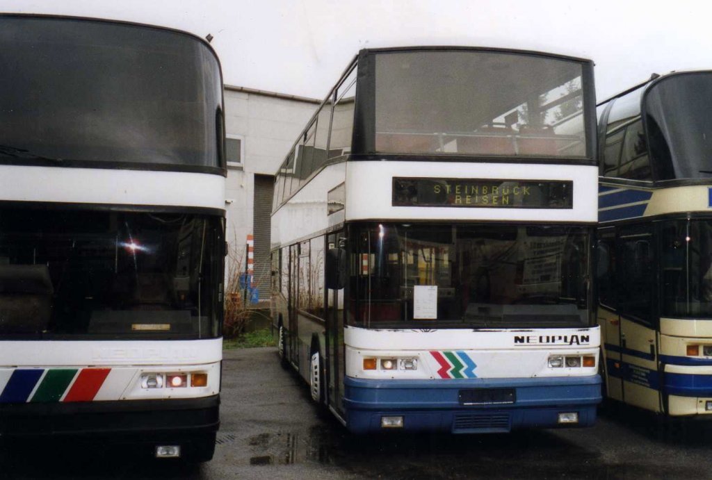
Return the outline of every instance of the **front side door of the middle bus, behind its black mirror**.
<path id="1" fill-rule="evenodd" d="M 327 249 L 344 248 L 343 232 L 327 236 Z M 345 255 L 345 254 L 344 254 Z M 328 376 L 329 406 L 343 415 L 341 400 L 344 384 L 344 289 L 326 289 L 326 345 L 328 348 L 326 371 Z"/>

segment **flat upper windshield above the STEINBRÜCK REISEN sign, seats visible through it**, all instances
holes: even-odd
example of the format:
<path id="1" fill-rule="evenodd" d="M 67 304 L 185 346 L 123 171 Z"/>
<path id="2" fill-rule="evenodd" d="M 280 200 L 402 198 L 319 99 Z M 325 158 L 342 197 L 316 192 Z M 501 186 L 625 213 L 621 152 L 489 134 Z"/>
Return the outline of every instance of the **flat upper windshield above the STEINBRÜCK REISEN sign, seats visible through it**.
<path id="1" fill-rule="evenodd" d="M 375 150 L 591 157 L 584 64 L 479 50 L 375 54 Z"/>

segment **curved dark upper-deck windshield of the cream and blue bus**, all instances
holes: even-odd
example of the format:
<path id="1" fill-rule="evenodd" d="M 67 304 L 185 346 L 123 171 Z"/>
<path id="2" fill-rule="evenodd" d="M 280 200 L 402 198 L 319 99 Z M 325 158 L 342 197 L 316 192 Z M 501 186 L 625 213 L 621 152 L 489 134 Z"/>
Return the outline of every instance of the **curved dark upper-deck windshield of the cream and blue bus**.
<path id="1" fill-rule="evenodd" d="M 656 177 L 712 177 L 712 72 L 671 75 L 655 82 L 643 111 Z"/>

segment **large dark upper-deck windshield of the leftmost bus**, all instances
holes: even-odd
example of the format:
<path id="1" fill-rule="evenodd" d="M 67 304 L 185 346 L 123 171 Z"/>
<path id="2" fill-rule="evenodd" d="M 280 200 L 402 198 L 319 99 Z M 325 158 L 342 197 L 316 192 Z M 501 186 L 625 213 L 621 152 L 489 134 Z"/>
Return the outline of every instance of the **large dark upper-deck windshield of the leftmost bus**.
<path id="1" fill-rule="evenodd" d="M 198 38 L 0 16 L 0 70 L 0 162 L 222 166 L 220 68 Z"/>

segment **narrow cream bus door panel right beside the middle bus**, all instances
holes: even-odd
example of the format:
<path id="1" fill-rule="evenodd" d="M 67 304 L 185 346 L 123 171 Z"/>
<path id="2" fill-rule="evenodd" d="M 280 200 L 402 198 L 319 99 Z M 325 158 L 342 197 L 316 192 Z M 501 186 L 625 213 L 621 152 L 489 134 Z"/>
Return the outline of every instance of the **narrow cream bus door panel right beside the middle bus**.
<path id="1" fill-rule="evenodd" d="M 621 360 L 621 329 L 618 314 L 617 248 L 614 228 L 598 231 L 598 307 L 597 323 L 601 327 L 601 362 L 606 373 L 603 378 L 607 397 L 623 400 L 623 368 Z"/>

